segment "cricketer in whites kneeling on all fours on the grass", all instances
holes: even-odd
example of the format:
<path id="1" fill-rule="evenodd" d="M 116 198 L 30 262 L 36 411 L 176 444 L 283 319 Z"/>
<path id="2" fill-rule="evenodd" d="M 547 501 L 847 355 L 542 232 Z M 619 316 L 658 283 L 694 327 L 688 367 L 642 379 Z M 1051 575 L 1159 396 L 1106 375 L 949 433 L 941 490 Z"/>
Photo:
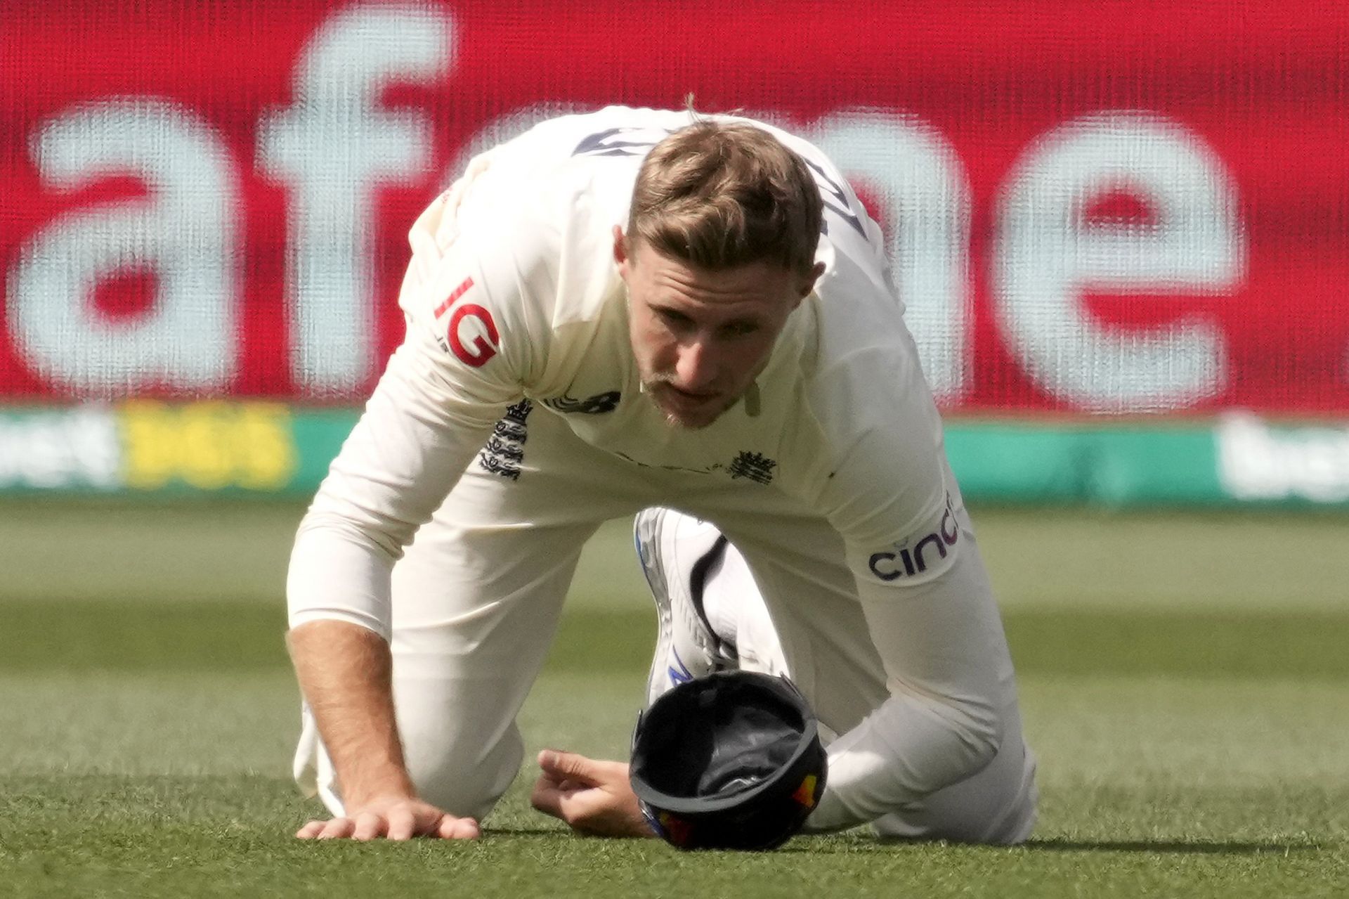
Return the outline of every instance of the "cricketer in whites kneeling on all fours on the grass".
<path id="1" fill-rule="evenodd" d="M 410 238 L 405 340 L 290 562 L 295 778 L 329 811 L 299 837 L 479 836 L 580 549 L 637 516 L 649 702 L 786 676 L 826 748 L 807 832 L 1027 838 L 1035 760 L 942 424 L 880 229 L 816 147 L 553 119 Z M 536 807 L 653 833 L 627 763 L 538 763 Z"/>

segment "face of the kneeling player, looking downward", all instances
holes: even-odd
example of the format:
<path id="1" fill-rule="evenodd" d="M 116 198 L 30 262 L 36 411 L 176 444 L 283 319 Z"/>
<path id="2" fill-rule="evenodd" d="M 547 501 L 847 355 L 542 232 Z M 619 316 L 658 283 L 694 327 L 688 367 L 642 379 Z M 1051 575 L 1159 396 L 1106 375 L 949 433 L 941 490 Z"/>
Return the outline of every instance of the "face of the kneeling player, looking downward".
<path id="1" fill-rule="evenodd" d="M 642 389 L 672 425 L 703 428 L 735 405 L 768 364 L 791 312 L 815 286 L 769 262 L 711 271 L 665 256 L 614 228 L 627 285 Z"/>

